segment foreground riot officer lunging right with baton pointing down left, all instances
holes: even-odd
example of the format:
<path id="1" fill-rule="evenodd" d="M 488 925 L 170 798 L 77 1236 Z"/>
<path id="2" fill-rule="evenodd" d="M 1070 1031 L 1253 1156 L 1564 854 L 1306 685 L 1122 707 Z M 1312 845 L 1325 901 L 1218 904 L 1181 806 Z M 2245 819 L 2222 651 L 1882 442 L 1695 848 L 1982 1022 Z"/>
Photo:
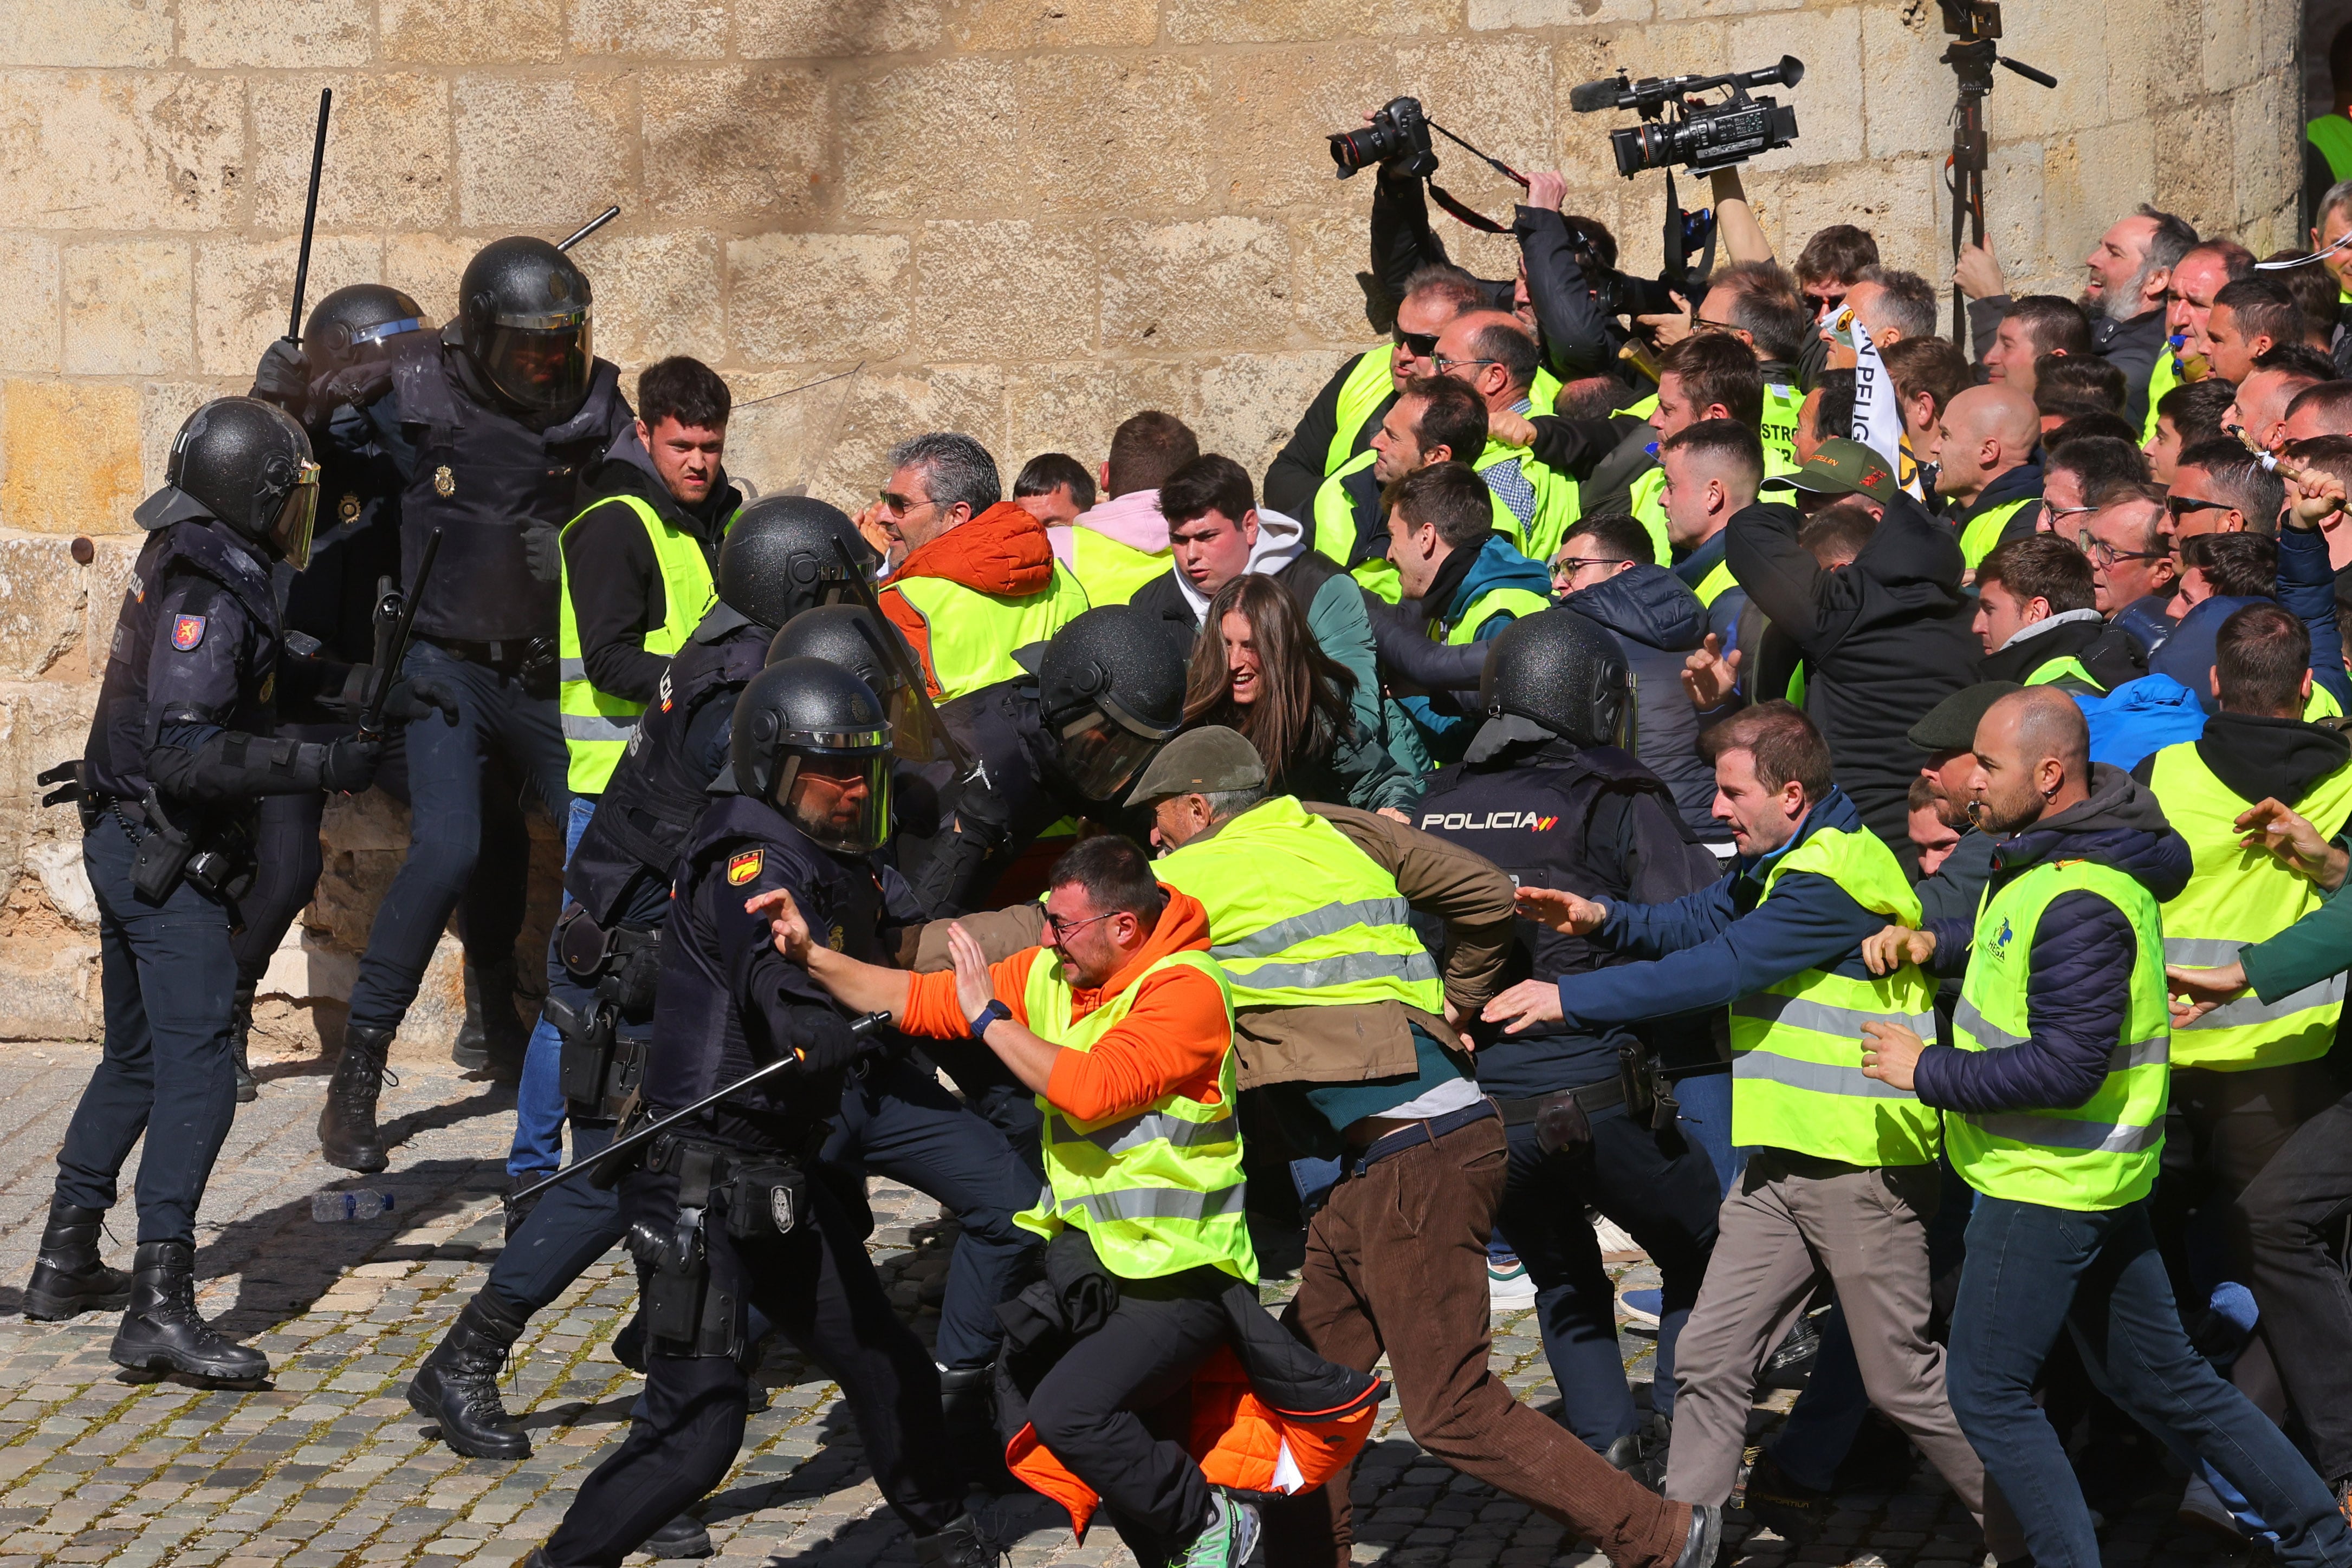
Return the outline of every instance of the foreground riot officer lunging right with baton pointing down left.
<path id="1" fill-rule="evenodd" d="M 882 961 L 889 924 L 913 914 L 875 858 L 889 835 L 891 729 L 858 677 L 786 658 L 743 689 L 729 752 L 743 792 L 717 799 L 680 856 L 642 1093 L 661 1112 L 783 1053 L 800 1067 L 720 1100 L 694 1131 L 663 1133 L 621 1178 L 644 1276 L 644 1394 L 628 1441 L 524 1561 L 619 1563 L 727 1474 L 757 1307 L 840 1380 L 915 1561 L 993 1563 L 948 1465 L 938 1371 L 891 1312 L 837 1175 L 814 1157 L 858 1039 L 774 950 L 767 919 L 743 912 L 755 893 L 788 889 L 844 952 Z"/>

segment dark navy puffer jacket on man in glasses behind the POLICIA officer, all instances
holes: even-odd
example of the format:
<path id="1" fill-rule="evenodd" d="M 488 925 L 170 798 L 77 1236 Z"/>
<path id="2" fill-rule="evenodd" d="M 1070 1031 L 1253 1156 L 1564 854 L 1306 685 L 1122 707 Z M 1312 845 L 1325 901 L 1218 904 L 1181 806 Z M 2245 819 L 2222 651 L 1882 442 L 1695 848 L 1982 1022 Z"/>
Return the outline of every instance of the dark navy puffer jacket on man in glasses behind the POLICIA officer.
<path id="1" fill-rule="evenodd" d="M 1675 795 L 1675 811 L 1700 844 L 1726 844 L 1715 820 L 1715 766 L 1698 755 L 1698 710 L 1682 689 L 1682 661 L 1708 637 L 1708 609 L 1665 567 L 1628 567 L 1562 599 L 1592 616 L 1632 665 L 1635 755 Z"/>

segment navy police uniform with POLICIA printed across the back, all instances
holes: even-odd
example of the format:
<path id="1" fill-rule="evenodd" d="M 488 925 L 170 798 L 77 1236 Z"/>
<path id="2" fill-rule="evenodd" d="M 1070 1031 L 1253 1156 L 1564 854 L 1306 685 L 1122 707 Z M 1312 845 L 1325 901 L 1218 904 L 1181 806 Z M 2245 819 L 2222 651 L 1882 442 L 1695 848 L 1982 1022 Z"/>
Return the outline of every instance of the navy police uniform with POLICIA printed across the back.
<path id="1" fill-rule="evenodd" d="M 1517 886 L 1611 903 L 1665 903 L 1717 875 L 1715 856 L 1691 839 L 1672 792 L 1616 748 L 1522 743 L 1486 762 L 1444 769 L 1430 780 L 1416 823 L 1486 856 Z M 1505 980 L 1557 980 L 1613 961 L 1585 938 L 1522 919 Z M 1719 1187 L 1708 1152 L 1686 1143 L 1679 1124 L 1653 1128 L 1632 1117 L 1618 1093 L 1621 1056 L 1651 1046 L 1668 1070 L 1712 1065 L 1703 1030 L 1644 1044 L 1625 1025 L 1534 1025 L 1524 1034 L 1482 1034 L 1477 1051 L 1479 1088 L 1503 1105 L 1510 1138 L 1496 1229 L 1536 1281 L 1536 1321 L 1564 1396 L 1564 1420 L 1595 1448 L 1630 1434 L 1637 1418 L 1616 1342 L 1616 1291 L 1585 1208 L 1623 1225 L 1663 1276 L 1651 1380 L 1651 1408 L 1661 1415 L 1672 1408 L 1675 1335 L 1715 1251 Z M 1545 1154 L 1534 1107 L 1571 1088 L 1583 1091 L 1590 1152 Z"/>

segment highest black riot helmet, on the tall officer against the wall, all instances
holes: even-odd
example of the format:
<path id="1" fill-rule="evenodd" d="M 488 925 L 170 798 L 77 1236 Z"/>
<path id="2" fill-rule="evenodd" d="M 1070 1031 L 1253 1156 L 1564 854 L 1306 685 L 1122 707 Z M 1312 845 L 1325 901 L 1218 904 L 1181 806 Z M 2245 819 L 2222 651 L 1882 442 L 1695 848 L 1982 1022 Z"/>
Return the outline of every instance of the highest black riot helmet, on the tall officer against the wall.
<path id="1" fill-rule="evenodd" d="M 588 273 L 546 240 L 492 240 L 456 284 L 456 329 L 489 386 L 546 414 L 588 395 Z"/>

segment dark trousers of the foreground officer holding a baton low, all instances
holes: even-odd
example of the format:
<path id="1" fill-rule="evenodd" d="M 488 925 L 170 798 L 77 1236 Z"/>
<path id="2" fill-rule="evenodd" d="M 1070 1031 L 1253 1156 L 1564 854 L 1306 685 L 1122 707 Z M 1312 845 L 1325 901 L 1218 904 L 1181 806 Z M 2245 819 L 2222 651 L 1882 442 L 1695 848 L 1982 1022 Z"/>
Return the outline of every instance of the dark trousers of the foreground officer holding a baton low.
<path id="1" fill-rule="evenodd" d="M 734 1241 L 722 1204 L 710 1206 L 710 1291 L 739 1302 L 739 1345 L 757 1307 L 842 1385 L 875 1486 L 910 1530 L 931 1535 L 962 1512 L 938 1368 L 891 1309 L 861 1227 L 821 1180 L 807 1192 L 809 1220 L 790 1237 Z M 621 1182 L 621 1206 L 633 1220 L 673 1229 L 677 1178 L 635 1171 Z M 560 1568 L 619 1568 L 647 1535 L 710 1493 L 743 1443 L 748 1378 L 734 1354 L 663 1354 L 663 1340 L 647 1349 L 628 1439 L 581 1481 L 548 1537 L 548 1561 Z"/>

